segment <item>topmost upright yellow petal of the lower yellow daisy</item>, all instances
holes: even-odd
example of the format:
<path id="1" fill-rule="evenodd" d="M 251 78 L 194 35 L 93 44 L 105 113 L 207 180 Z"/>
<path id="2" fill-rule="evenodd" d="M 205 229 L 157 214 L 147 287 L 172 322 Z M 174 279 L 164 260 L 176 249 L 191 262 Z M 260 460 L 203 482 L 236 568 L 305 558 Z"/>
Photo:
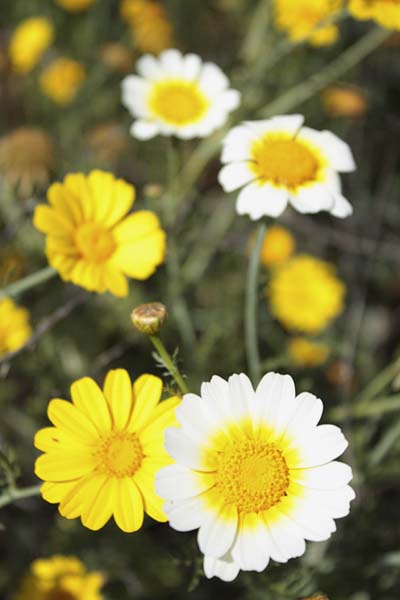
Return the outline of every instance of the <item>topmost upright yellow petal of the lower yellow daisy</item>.
<path id="1" fill-rule="evenodd" d="M 116 429 L 124 429 L 131 416 L 132 384 L 125 369 L 109 371 L 104 382 L 104 395 L 111 408 Z"/>

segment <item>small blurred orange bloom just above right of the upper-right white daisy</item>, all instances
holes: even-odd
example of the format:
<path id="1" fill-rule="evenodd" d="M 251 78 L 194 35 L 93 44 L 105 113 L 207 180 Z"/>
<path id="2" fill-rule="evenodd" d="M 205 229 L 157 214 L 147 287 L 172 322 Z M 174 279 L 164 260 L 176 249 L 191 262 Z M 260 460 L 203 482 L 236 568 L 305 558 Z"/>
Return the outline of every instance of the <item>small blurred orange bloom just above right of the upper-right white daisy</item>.
<path id="1" fill-rule="evenodd" d="M 332 85 L 321 98 L 326 112 L 334 117 L 360 117 L 367 110 L 362 90 L 351 85 Z"/>

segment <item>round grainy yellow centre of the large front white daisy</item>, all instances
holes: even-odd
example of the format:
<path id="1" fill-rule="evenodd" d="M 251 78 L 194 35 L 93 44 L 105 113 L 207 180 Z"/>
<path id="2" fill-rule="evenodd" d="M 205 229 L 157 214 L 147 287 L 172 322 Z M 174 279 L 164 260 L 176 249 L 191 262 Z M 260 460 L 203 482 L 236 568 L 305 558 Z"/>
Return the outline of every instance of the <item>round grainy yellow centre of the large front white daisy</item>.
<path id="1" fill-rule="evenodd" d="M 273 443 L 245 440 L 221 453 L 216 490 L 239 513 L 268 510 L 286 494 L 289 469 Z"/>

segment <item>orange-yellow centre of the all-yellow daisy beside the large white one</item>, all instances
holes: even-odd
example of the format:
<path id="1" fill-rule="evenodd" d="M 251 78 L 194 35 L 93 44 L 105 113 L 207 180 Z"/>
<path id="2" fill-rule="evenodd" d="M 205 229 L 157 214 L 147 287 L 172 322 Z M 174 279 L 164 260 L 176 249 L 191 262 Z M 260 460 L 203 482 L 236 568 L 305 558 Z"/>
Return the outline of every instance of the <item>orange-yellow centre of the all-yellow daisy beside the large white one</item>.
<path id="1" fill-rule="evenodd" d="M 95 453 L 98 470 L 109 476 L 132 477 L 143 461 L 143 450 L 135 433 L 113 432 Z"/>

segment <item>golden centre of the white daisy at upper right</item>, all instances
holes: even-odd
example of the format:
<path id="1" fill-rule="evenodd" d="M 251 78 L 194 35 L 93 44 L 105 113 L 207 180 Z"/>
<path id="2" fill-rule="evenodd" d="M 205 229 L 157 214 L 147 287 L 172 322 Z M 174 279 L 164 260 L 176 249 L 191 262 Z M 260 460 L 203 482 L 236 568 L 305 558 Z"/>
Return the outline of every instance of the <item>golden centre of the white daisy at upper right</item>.
<path id="1" fill-rule="evenodd" d="M 304 142 L 268 133 L 252 148 L 252 169 L 262 182 L 297 188 L 316 180 L 320 160 Z"/>

